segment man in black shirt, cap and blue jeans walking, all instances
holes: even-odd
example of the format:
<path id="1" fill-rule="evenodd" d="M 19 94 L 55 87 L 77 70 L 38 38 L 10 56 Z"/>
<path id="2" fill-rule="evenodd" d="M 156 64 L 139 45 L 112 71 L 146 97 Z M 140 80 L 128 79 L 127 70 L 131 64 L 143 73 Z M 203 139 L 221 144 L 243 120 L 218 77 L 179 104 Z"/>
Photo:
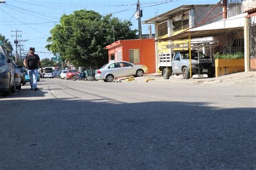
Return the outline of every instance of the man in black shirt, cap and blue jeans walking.
<path id="1" fill-rule="evenodd" d="M 26 55 L 24 63 L 23 63 L 28 70 L 29 78 L 30 78 L 30 86 L 31 91 L 37 91 L 37 74 L 38 74 L 38 64 L 43 70 L 40 58 L 38 55 L 35 54 L 35 48 L 30 47 L 28 55 Z"/>

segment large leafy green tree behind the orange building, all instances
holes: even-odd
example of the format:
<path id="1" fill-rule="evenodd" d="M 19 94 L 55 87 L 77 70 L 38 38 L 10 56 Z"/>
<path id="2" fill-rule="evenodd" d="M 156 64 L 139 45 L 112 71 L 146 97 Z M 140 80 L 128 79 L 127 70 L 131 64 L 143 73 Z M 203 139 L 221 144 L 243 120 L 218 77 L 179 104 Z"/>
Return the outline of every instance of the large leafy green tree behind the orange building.
<path id="1" fill-rule="evenodd" d="M 50 31 L 46 48 L 76 66 L 99 67 L 108 60 L 105 46 L 113 43 L 113 28 L 116 40 L 137 38 L 137 30 L 131 30 L 130 26 L 131 22 L 111 15 L 74 11 L 63 15 L 60 24 Z"/>

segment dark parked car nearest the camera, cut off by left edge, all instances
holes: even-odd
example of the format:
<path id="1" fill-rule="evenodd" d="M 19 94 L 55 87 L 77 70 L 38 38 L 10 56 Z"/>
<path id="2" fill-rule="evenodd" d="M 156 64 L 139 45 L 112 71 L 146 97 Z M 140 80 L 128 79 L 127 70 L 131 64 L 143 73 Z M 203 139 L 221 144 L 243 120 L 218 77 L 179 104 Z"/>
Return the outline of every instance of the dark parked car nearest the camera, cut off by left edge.
<path id="1" fill-rule="evenodd" d="M 12 61 L 7 58 L 7 55 L 2 46 L 0 46 L 0 91 L 3 96 L 8 96 L 16 91 L 15 72 L 12 68 Z"/>

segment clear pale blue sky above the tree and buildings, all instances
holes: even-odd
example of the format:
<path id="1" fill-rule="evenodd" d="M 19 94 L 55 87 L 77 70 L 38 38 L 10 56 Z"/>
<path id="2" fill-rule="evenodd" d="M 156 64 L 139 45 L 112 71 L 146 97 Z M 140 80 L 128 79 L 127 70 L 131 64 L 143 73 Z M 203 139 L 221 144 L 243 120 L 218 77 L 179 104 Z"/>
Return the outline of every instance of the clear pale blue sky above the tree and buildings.
<path id="1" fill-rule="evenodd" d="M 24 52 L 33 46 L 41 59 L 54 57 L 45 49 L 45 45 L 48 44 L 46 40 L 51 36 L 50 30 L 59 23 L 64 13 L 69 15 L 80 9 L 94 10 L 100 15 L 112 13 L 113 17 L 122 20 L 131 19 L 133 24 L 131 29 L 138 29 L 138 20 L 133 16 L 138 0 L 5 0 L 5 2 L 0 3 L 0 33 L 12 43 L 14 55 L 17 30 L 21 31 L 17 32 L 18 39 L 27 40 L 21 42 Z M 216 4 L 219 0 L 140 0 L 139 2 L 143 10 L 142 21 L 144 21 L 180 5 Z M 153 25 L 152 30 L 154 33 Z M 142 33 L 149 33 L 148 24 L 142 24 Z"/>

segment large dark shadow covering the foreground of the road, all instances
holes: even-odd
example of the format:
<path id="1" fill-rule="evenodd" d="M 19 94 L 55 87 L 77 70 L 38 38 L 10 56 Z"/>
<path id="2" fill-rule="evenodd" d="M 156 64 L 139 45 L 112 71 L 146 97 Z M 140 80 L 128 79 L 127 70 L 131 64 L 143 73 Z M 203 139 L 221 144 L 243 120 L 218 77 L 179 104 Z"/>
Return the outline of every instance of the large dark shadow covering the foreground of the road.
<path id="1" fill-rule="evenodd" d="M 255 108 L 71 98 L 0 107 L 0 169 L 256 168 Z"/>

